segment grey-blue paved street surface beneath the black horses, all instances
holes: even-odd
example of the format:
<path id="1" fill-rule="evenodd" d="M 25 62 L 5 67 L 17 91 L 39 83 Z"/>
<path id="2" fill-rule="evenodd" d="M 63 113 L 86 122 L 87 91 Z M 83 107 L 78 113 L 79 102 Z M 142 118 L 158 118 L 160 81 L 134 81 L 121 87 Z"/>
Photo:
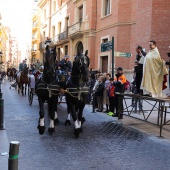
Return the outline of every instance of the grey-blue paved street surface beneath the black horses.
<path id="1" fill-rule="evenodd" d="M 20 142 L 19 170 L 170 169 L 169 140 L 123 126 L 104 113 L 92 113 L 89 105 L 84 110 L 86 122 L 78 139 L 74 137 L 73 122 L 64 125 L 66 104 L 58 105 L 60 124 L 56 133 L 48 134 L 46 114 L 46 131 L 39 135 L 37 97 L 30 106 L 28 96 L 9 86 L 8 81 L 2 84 L 5 128 L 9 142 Z"/>

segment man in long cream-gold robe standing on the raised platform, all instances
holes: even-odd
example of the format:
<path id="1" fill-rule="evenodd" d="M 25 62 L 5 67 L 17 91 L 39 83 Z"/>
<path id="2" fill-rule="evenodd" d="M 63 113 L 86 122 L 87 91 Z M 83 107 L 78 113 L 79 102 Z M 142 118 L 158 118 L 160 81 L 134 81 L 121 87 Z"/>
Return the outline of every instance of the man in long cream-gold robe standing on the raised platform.
<path id="1" fill-rule="evenodd" d="M 166 75 L 168 70 L 165 61 L 161 58 L 155 41 L 149 42 L 150 50 L 147 53 L 143 65 L 143 79 L 141 87 L 146 94 L 152 97 L 161 97 L 162 90 L 166 88 Z"/>

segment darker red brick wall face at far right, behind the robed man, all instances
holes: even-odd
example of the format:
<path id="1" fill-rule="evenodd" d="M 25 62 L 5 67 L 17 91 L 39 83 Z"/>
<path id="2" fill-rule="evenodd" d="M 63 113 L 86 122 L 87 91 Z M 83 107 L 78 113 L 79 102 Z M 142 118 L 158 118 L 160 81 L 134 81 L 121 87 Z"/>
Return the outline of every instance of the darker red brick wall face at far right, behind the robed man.
<path id="1" fill-rule="evenodd" d="M 152 11 L 151 39 L 157 42 L 158 50 L 164 60 L 170 46 L 170 0 L 154 0 Z"/>

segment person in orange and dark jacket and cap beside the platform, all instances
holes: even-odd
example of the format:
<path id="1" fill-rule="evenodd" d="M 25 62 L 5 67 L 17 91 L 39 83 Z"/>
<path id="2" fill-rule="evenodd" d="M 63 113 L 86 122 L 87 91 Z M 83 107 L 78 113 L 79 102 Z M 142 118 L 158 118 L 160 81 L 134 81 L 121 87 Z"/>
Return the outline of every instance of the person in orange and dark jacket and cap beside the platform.
<path id="1" fill-rule="evenodd" d="M 116 77 L 114 78 L 113 84 L 115 86 L 115 107 L 116 107 L 116 113 L 112 115 L 113 117 L 118 117 L 119 119 L 123 119 L 123 97 L 118 96 L 116 92 L 123 93 L 124 92 L 124 86 L 126 83 L 126 77 L 123 74 L 123 68 L 118 67 Z"/>

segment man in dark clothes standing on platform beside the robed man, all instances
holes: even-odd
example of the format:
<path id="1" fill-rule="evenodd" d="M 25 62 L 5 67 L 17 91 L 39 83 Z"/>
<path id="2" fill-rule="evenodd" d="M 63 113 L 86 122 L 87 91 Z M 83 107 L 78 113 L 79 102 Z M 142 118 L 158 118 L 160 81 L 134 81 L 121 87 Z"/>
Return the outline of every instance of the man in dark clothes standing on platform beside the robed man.
<path id="1" fill-rule="evenodd" d="M 136 83 L 136 94 L 142 94 L 142 90 L 140 88 L 142 77 L 143 77 L 143 63 L 144 63 L 144 57 L 146 56 L 146 53 L 143 51 L 143 48 L 141 46 L 138 46 L 136 48 L 136 61 L 135 61 L 135 83 Z"/>

